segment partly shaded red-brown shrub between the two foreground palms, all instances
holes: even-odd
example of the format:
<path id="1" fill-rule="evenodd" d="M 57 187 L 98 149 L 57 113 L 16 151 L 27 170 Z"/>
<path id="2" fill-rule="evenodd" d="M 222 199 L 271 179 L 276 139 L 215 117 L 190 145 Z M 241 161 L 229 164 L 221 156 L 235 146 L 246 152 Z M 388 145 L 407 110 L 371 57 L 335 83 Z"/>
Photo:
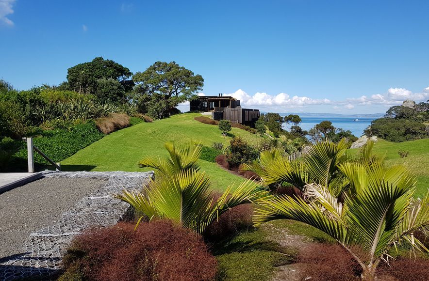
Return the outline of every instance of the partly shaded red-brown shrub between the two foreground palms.
<path id="1" fill-rule="evenodd" d="M 215 198 L 218 196 L 215 196 Z M 221 241 L 240 230 L 252 227 L 253 208 L 251 204 L 238 205 L 222 214 L 205 231 L 204 237 L 209 241 Z"/>

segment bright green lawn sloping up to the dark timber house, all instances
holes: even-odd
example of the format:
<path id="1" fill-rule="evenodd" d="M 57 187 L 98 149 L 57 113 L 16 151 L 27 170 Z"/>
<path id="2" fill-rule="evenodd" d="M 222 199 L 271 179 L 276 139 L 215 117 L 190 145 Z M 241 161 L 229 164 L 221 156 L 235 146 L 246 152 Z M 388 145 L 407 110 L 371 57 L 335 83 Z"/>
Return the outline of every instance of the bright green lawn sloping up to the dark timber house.
<path id="1" fill-rule="evenodd" d="M 223 137 L 217 126 L 202 124 L 194 120 L 199 113 L 184 113 L 153 123 L 141 123 L 116 131 L 80 150 L 61 162 L 65 171 L 128 171 L 144 172 L 137 166 L 146 155 L 167 155 L 166 141 L 183 143 L 195 139 L 206 146 L 222 142 L 227 146 L 229 137 Z M 232 135 L 249 142 L 256 142 L 257 136 L 245 130 L 232 128 Z M 201 160 L 201 168 L 213 179 L 213 187 L 224 190 L 232 182 L 244 181 L 217 166 L 216 163 Z"/>

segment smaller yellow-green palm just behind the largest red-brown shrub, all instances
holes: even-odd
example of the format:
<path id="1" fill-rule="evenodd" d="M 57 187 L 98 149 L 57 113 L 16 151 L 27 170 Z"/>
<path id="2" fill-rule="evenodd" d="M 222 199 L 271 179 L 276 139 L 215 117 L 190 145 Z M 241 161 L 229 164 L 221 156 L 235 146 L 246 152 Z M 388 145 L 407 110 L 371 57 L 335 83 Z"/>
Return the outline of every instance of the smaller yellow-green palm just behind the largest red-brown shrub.
<path id="1" fill-rule="evenodd" d="M 181 148 L 166 144 L 170 158 L 146 157 L 140 164 L 159 170 L 162 176 L 151 180 L 145 192 L 123 190 L 115 198 L 130 203 L 142 218 L 171 219 L 184 228 L 200 234 L 230 208 L 246 203 L 261 203 L 270 195 L 266 191 L 255 191 L 257 183 L 249 180 L 234 189 L 227 188 L 214 200 L 210 191 L 210 180 L 204 172 L 198 172 L 200 145 L 195 142 Z M 192 148 L 193 147 L 193 148 Z"/>

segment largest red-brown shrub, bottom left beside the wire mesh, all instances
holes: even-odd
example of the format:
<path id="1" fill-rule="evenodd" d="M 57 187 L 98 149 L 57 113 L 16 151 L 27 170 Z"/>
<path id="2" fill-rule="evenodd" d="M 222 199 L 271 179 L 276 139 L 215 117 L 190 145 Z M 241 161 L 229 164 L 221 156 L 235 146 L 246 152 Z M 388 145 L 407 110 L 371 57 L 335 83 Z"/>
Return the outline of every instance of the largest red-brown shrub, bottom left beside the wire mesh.
<path id="1" fill-rule="evenodd" d="M 158 220 L 91 229 L 75 238 L 60 280 L 213 280 L 216 260 L 202 237 Z"/>

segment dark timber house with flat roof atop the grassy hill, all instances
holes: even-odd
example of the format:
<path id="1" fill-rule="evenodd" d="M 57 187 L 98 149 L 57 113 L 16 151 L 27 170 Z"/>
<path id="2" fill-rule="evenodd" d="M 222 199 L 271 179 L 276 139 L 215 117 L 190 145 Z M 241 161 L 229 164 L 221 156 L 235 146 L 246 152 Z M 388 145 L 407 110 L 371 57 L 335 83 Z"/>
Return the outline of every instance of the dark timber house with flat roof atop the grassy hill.
<path id="1" fill-rule="evenodd" d="M 258 109 L 242 109 L 240 100 L 232 96 L 209 95 L 198 96 L 189 104 L 190 111 L 212 112 L 214 120 L 230 120 L 232 123 L 240 123 L 254 127 L 259 118 Z"/>

